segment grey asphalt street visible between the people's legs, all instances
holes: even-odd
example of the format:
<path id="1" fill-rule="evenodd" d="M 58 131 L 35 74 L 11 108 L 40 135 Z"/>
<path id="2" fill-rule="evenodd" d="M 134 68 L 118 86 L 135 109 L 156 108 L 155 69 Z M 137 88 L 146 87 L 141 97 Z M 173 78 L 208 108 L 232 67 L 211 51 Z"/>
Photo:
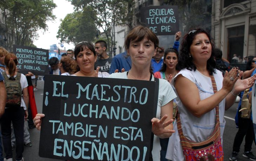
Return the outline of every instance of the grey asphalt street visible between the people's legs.
<path id="1" fill-rule="evenodd" d="M 38 91 L 35 91 L 35 98 L 36 98 L 36 105 L 38 107 L 38 112 L 42 112 L 42 99 L 43 99 L 43 82 L 39 81 L 38 82 Z M 237 128 L 235 127 L 235 122 L 234 120 L 231 120 L 235 117 L 236 114 L 236 108 L 237 104 L 233 105 L 228 111 L 225 112 L 225 120 L 226 120 L 226 125 L 225 125 L 225 130 L 224 130 L 224 140 L 223 140 L 223 145 L 224 145 L 224 160 L 228 161 L 229 156 L 232 152 L 232 147 L 233 147 L 233 141 L 235 138 L 235 134 L 237 132 Z M 229 118 L 227 118 L 229 117 Z M 230 119 L 231 118 L 231 119 Z M 31 135 L 31 142 L 33 144 L 32 147 L 25 147 L 23 156 L 25 157 L 26 161 L 58 161 L 55 159 L 46 159 L 46 158 L 40 158 L 38 156 L 38 149 L 39 149 L 39 138 L 40 138 L 40 131 L 34 129 L 29 130 L 30 135 Z M 241 145 L 241 152 L 238 155 L 238 160 L 240 161 L 249 161 L 249 159 L 246 159 L 242 156 L 242 152 L 244 150 L 244 142 Z M 252 152 L 256 154 L 256 146 L 255 144 L 252 145 Z"/>

